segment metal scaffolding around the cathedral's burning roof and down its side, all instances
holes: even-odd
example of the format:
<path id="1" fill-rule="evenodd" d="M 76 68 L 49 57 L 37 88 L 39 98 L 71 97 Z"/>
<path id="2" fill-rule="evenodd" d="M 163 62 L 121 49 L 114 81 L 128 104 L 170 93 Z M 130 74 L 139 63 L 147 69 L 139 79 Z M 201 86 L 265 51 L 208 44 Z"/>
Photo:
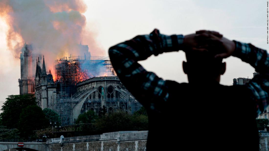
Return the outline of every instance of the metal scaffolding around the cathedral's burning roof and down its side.
<path id="1" fill-rule="evenodd" d="M 56 82 L 59 83 L 56 109 L 62 119 L 62 125 L 73 124 L 72 94 L 76 91 L 76 83 L 96 76 L 87 68 L 82 67 L 82 65 L 87 67 L 87 65 L 90 64 L 101 65 L 105 67 L 108 72 L 111 72 L 112 75 L 115 75 L 109 57 L 105 56 L 82 57 L 70 55 L 70 57 L 63 57 L 55 61 L 54 77 Z"/>

